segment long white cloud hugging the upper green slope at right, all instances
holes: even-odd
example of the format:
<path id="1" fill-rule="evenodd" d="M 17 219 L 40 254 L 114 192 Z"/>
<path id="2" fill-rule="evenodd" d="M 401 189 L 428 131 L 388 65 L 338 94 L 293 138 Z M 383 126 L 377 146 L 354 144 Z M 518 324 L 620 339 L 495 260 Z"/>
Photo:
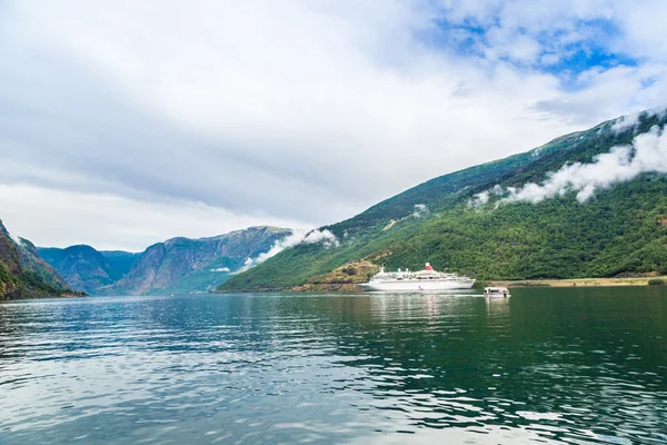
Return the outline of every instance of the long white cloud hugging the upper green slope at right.
<path id="1" fill-rule="evenodd" d="M 509 196 L 501 202 L 537 204 L 571 191 L 577 194 L 577 200 L 585 202 L 597 190 L 633 180 L 644 172 L 667 174 L 667 134 L 657 127 L 635 137 L 631 146 L 614 147 L 596 156 L 590 164 L 566 165 L 541 184 L 508 189 Z"/>

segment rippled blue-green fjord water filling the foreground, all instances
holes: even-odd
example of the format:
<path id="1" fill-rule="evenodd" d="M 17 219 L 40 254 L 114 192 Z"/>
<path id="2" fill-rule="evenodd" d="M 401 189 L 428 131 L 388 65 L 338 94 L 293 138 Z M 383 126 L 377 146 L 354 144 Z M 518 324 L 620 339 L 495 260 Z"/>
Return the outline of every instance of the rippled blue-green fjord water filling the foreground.
<path id="1" fill-rule="evenodd" d="M 665 287 L 0 305 L 0 443 L 667 443 Z"/>

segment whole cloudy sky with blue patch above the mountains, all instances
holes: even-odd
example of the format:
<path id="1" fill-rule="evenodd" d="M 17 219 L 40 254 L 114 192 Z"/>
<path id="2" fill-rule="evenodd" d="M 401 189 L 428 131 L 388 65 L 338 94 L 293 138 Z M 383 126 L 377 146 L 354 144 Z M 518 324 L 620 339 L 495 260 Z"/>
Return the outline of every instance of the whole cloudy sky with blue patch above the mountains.
<path id="1" fill-rule="evenodd" d="M 0 218 L 38 245 L 132 250 L 335 222 L 665 105 L 664 17 L 653 0 L 3 1 Z"/>

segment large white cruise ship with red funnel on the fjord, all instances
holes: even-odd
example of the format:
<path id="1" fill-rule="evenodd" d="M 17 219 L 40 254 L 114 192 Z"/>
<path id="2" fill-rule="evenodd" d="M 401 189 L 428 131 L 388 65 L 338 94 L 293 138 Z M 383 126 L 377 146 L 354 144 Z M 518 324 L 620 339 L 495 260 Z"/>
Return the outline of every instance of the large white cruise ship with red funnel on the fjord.
<path id="1" fill-rule="evenodd" d="M 456 274 L 435 271 L 430 264 L 424 270 L 385 271 L 382 267 L 370 281 L 359 286 L 364 290 L 376 291 L 419 291 L 419 290 L 450 290 L 469 289 L 475 284 L 474 278 L 459 277 Z"/>

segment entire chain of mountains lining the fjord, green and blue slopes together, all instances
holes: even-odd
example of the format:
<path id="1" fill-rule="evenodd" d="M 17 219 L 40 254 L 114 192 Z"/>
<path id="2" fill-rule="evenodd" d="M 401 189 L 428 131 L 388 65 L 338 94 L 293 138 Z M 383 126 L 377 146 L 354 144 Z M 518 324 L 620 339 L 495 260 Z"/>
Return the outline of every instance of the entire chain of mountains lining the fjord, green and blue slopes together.
<path id="1" fill-rule="evenodd" d="M 667 274 L 666 125 L 665 109 L 606 121 L 431 179 L 309 234 L 251 227 L 172 238 L 141 254 L 39 249 L 64 281 L 0 224 L 0 298 L 69 286 L 118 295 L 318 290 L 366 280 L 380 265 L 426 261 L 482 280 Z"/>

